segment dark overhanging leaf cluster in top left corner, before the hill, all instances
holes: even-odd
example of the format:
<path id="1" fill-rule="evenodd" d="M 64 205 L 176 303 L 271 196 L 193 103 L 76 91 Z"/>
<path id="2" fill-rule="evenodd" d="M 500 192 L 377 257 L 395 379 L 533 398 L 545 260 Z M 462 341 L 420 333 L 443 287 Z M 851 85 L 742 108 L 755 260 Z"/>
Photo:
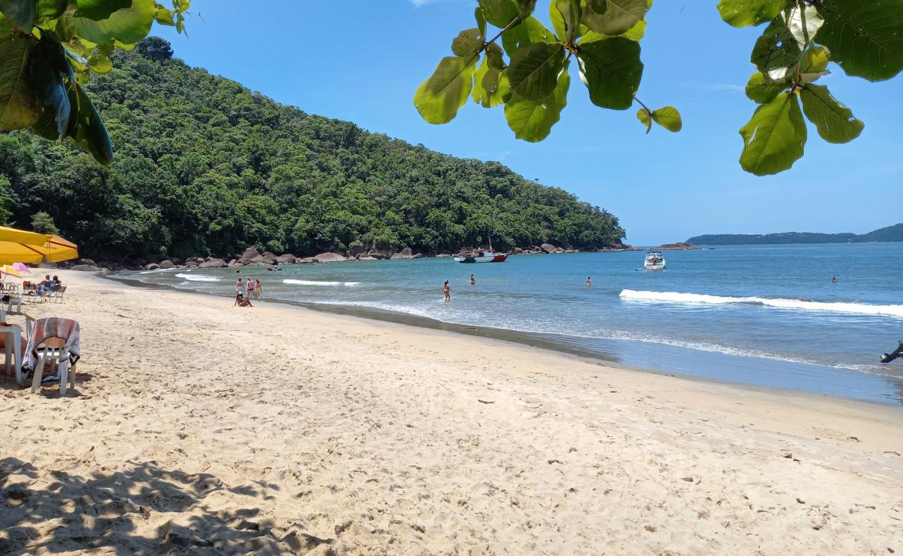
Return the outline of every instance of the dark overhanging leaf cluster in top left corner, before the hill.
<path id="1" fill-rule="evenodd" d="M 67 138 L 110 165 L 107 128 L 84 86 L 92 73 L 111 71 L 110 54 L 134 48 L 154 21 L 184 32 L 189 3 L 0 1 L 0 131 L 31 127 L 51 141 Z"/>

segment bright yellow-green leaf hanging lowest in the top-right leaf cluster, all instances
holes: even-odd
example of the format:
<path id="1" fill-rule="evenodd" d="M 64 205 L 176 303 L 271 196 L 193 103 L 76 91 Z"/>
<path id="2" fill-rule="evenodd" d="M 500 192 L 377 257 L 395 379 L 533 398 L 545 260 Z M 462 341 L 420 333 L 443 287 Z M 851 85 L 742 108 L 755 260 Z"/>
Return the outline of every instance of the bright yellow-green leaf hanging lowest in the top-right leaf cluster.
<path id="1" fill-rule="evenodd" d="M 805 120 L 796 94 L 782 92 L 756 108 L 749 122 L 740 127 L 743 154 L 740 165 L 756 175 L 777 174 L 803 155 Z"/>

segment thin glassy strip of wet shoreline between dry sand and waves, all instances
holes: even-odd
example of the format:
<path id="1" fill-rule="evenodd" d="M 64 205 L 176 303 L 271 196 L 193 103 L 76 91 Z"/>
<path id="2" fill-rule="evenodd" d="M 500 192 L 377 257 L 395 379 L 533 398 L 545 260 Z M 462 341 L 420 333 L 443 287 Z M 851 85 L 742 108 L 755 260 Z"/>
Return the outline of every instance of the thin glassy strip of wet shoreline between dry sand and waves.
<path id="1" fill-rule="evenodd" d="M 173 271 L 176 270 L 173 269 Z M 121 277 L 115 273 L 98 275 L 98 278 L 107 278 L 116 282 L 126 283 L 131 287 L 165 289 L 199 296 L 230 298 L 169 284 L 154 284 L 135 278 Z M 507 344 L 547 350 L 552 353 L 563 353 L 584 362 L 603 364 L 632 372 L 652 372 L 666 376 L 677 375 L 692 380 L 763 389 L 764 391 L 810 394 L 815 397 L 828 396 L 880 405 L 903 405 L 903 379 L 899 382 L 898 390 L 900 393 L 896 397 L 890 395 L 879 396 L 875 393 L 878 390 L 878 385 L 892 383 L 888 377 L 835 367 L 824 367 L 815 363 L 795 362 L 754 355 L 709 352 L 688 346 L 658 344 L 643 342 L 642 340 L 590 338 L 535 333 L 483 325 L 464 325 L 428 316 L 388 311 L 369 306 L 331 305 L 279 298 L 269 299 L 267 303 L 301 307 L 327 315 L 351 316 L 377 322 L 450 332 L 456 335 L 487 338 Z M 660 363 L 663 361 L 667 363 Z M 675 361 L 679 362 L 679 365 L 674 365 Z M 672 367 L 668 366 L 669 363 Z M 758 365 L 757 373 L 746 373 L 749 370 L 749 365 L 744 363 Z M 673 368 L 674 366 L 676 368 Z M 730 377 L 723 376 L 725 374 L 724 369 L 731 367 L 737 367 L 738 370 L 728 373 L 731 375 Z M 805 374 L 795 373 L 796 367 L 802 367 L 808 372 Z M 790 372 L 788 373 L 787 370 L 790 370 Z M 797 374 L 800 376 L 797 376 Z M 807 383 L 808 389 L 799 385 L 800 382 L 811 379 L 813 375 L 817 376 L 818 381 Z M 861 390 L 851 391 L 853 387 L 858 387 Z"/>

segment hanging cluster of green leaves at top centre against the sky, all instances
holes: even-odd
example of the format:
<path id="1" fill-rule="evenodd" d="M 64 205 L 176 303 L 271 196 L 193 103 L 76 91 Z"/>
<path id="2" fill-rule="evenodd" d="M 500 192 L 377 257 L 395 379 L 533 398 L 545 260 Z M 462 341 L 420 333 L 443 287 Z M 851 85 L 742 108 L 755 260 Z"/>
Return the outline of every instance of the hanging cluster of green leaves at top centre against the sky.
<path id="1" fill-rule="evenodd" d="M 550 0 L 552 29 L 535 17 L 536 0 L 477 4 L 477 26 L 452 40 L 454 56 L 442 58 L 414 94 L 427 122 L 452 121 L 470 97 L 483 108 L 504 105 L 515 137 L 541 141 L 567 106 L 573 59 L 593 104 L 614 110 L 633 105 L 651 0 Z M 672 131 L 679 129 L 673 116 L 668 122 Z"/>

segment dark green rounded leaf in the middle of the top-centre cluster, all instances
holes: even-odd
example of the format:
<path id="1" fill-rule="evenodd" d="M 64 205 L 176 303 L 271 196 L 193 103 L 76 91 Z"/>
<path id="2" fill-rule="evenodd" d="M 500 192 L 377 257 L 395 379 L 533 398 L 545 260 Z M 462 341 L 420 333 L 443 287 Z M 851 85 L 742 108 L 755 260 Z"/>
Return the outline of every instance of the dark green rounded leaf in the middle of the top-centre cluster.
<path id="1" fill-rule="evenodd" d="M 508 79 L 511 90 L 527 100 L 542 100 L 555 89 L 564 63 L 558 42 L 534 42 L 511 56 Z"/>

